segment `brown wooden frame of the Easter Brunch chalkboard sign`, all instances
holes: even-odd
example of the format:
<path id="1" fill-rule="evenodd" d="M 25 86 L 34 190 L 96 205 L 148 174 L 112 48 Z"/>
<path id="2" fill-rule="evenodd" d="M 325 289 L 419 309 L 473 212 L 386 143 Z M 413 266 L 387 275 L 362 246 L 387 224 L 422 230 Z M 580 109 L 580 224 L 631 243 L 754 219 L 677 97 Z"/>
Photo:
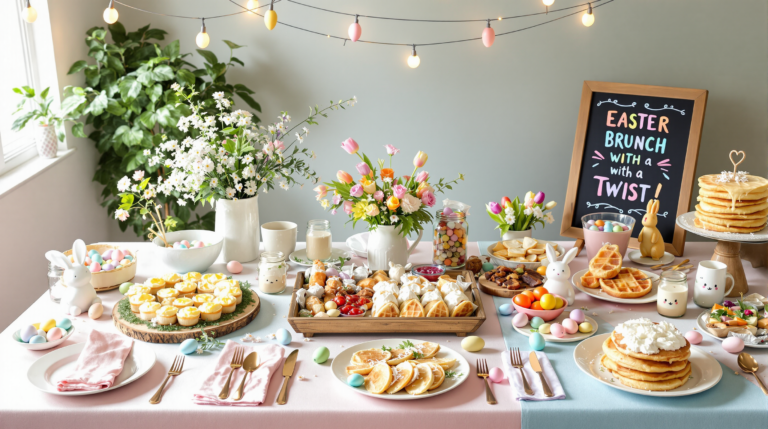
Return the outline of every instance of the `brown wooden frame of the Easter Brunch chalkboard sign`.
<path id="1" fill-rule="evenodd" d="M 584 246 L 584 230 L 572 226 L 575 213 L 576 194 L 581 179 L 581 165 L 586 147 L 587 127 L 589 115 L 592 110 L 592 96 L 595 92 L 607 92 L 612 94 L 639 95 L 649 97 L 679 98 L 693 101 L 690 135 L 688 136 L 688 149 L 685 154 L 685 167 L 680 188 L 680 197 L 677 204 L 676 216 L 687 213 L 691 206 L 693 184 L 696 178 L 696 162 L 699 159 L 699 145 L 701 144 L 701 129 L 704 125 L 704 112 L 707 108 L 707 95 L 705 89 L 672 88 L 665 86 L 634 85 L 628 83 L 584 81 L 581 91 L 581 104 L 579 105 L 579 119 L 576 125 L 576 138 L 573 142 L 573 156 L 571 157 L 571 172 L 568 175 L 568 191 L 565 197 L 563 222 L 560 226 L 560 235 L 575 238 L 576 247 L 581 251 Z M 681 256 L 685 250 L 685 230 L 675 225 L 675 234 L 672 243 L 664 243 L 665 250 L 675 256 Z M 636 238 L 632 238 L 629 247 L 638 248 Z"/>

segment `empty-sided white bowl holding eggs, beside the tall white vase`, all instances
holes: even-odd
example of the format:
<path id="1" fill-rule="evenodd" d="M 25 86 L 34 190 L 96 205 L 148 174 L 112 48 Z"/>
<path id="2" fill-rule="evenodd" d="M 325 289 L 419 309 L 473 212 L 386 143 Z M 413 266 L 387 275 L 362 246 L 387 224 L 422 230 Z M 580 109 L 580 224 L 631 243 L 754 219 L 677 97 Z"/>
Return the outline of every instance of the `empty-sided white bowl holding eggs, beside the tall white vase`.
<path id="1" fill-rule="evenodd" d="M 224 237 L 213 231 L 203 229 L 188 229 L 174 231 L 165 234 L 169 244 L 177 241 L 200 240 L 210 246 L 196 247 L 192 249 L 174 249 L 171 247 L 153 246 L 155 256 L 173 272 L 184 274 L 190 271 L 205 272 L 219 257 L 224 246 Z"/>

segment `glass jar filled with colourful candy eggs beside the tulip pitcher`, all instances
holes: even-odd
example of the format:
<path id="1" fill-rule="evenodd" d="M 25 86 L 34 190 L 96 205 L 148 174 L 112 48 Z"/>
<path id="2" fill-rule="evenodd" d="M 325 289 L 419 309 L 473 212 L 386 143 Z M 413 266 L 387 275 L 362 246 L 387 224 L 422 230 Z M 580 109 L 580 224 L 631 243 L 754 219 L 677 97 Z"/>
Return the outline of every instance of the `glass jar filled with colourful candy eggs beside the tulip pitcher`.
<path id="1" fill-rule="evenodd" d="M 435 235 L 432 262 L 446 268 L 461 268 L 467 259 L 467 233 L 469 225 L 464 212 L 435 214 Z"/>

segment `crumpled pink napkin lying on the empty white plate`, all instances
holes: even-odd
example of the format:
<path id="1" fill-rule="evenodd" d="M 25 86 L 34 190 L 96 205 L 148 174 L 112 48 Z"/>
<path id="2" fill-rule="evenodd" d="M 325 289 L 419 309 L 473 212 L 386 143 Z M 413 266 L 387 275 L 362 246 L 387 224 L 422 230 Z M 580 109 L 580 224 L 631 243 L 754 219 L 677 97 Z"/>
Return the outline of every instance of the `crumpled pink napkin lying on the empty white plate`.
<path id="1" fill-rule="evenodd" d="M 85 348 L 77 358 L 75 371 L 59 380 L 59 392 L 70 390 L 101 390 L 112 387 L 122 372 L 125 358 L 131 352 L 133 340 L 119 334 L 92 330 Z"/>

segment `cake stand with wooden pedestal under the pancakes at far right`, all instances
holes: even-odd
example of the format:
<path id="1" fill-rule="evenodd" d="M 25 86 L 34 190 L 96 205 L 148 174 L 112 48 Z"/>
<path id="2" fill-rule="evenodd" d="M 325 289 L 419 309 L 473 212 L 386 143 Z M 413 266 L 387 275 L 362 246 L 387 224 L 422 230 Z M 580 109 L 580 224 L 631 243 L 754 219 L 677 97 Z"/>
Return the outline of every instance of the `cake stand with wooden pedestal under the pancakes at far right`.
<path id="1" fill-rule="evenodd" d="M 737 297 L 742 293 L 746 294 L 749 291 L 749 284 L 746 275 L 744 275 L 744 265 L 742 265 L 741 259 L 750 261 L 755 268 L 766 265 L 768 261 L 768 246 L 766 245 L 768 243 L 768 228 L 750 234 L 716 232 L 697 227 L 693 223 L 694 219 L 696 219 L 696 212 L 688 212 L 678 216 L 675 223 L 680 228 L 700 237 L 717 240 L 712 260 L 727 265 L 728 272 L 735 280 L 733 290 L 728 296 Z"/>

